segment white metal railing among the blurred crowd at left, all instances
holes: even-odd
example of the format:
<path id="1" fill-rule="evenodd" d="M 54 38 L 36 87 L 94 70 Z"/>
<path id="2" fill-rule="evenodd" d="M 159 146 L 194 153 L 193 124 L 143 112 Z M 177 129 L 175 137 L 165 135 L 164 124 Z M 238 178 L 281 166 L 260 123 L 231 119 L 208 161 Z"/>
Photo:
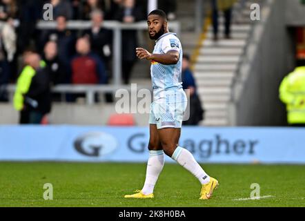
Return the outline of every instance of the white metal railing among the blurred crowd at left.
<path id="1" fill-rule="evenodd" d="M 20 25 L 18 20 L 14 21 L 14 26 Z M 3 22 L 0 22 L 0 28 L 3 26 Z M 56 21 L 39 21 L 37 28 L 40 30 L 52 30 L 57 26 Z M 91 21 L 68 21 L 67 28 L 70 30 L 86 30 L 92 26 Z M 121 30 L 147 30 L 146 21 L 139 21 L 136 23 L 121 23 L 119 21 L 104 21 L 104 28 L 108 28 L 114 32 L 113 39 L 113 57 L 112 57 L 112 71 L 113 71 L 113 85 L 92 86 L 92 85 L 58 85 L 52 88 L 54 93 L 85 93 L 86 103 L 94 104 L 95 93 L 114 93 L 120 88 L 130 90 L 130 87 L 121 84 Z M 177 35 L 181 33 L 181 27 L 179 21 L 170 21 L 168 23 L 170 30 L 176 32 Z M 10 100 L 15 90 L 14 85 L 6 86 Z M 145 88 L 144 86 L 138 86 L 138 88 Z"/>

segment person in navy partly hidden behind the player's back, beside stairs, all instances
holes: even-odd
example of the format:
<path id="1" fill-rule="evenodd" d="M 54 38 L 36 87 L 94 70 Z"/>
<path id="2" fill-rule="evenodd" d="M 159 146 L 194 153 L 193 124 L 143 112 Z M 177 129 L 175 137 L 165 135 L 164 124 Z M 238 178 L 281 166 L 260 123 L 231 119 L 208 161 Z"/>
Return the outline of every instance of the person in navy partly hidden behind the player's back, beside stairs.
<path id="1" fill-rule="evenodd" d="M 183 55 L 182 60 L 182 86 L 190 96 L 190 118 L 184 122 L 184 125 L 198 125 L 204 119 L 204 110 L 197 95 L 193 73 L 190 70 L 190 57 L 186 54 Z"/>

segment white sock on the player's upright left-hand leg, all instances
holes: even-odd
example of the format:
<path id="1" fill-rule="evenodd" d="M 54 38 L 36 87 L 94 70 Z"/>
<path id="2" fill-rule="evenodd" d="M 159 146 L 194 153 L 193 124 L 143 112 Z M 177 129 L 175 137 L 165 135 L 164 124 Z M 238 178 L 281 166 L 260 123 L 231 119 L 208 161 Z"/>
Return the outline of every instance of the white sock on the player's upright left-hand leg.
<path id="1" fill-rule="evenodd" d="M 142 193 L 148 195 L 154 192 L 155 184 L 158 180 L 164 166 L 164 152 L 163 151 L 149 151 L 149 159 L 146 169 L 146 180 Z"/>

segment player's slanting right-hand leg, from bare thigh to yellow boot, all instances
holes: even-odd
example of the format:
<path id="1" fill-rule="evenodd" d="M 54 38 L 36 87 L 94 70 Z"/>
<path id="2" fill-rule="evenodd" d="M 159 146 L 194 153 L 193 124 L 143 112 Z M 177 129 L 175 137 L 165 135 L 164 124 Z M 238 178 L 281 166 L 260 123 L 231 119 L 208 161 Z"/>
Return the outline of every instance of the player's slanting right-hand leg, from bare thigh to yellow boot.
<path id="1" fill-rule="evenodd" d="M 181 128 L 163 128 L 158 133 L 164 153 L 197 177 L 202 185 L 200 199 L 209 199 L 218 186 L 218 181 L 206 174 L 190 151 L 178 146 Z"/>

